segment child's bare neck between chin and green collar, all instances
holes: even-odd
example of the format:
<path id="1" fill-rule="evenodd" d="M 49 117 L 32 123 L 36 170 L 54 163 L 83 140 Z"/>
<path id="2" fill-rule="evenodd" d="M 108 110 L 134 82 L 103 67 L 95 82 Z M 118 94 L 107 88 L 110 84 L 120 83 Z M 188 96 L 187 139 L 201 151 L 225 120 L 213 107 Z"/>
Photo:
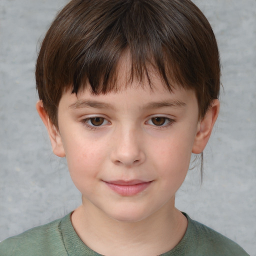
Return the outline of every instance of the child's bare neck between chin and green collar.
<path id="1" fill-rule="evenodd" d="M 136 222 L 110 218 L 83 199 L 71 215 L 80 239 L 103 255 L 157 255 L 172 249 L 183 237 L 187 220 L 174 207 L 174 198 Z"/>

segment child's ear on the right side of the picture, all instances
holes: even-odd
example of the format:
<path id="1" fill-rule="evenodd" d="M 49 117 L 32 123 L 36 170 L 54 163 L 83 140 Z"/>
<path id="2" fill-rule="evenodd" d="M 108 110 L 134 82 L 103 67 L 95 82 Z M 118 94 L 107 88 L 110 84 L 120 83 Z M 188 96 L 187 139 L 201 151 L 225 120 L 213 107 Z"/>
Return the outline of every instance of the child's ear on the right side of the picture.
<path id="1" fill-rule="evenodd" d="M 192 153 L 199 154 L 203 151 L 209 140 L 210 133 L 218 116 L 218 112 L 219 101 L 218 99 L 214 99 L 204 117 L 198 122 Z"/>

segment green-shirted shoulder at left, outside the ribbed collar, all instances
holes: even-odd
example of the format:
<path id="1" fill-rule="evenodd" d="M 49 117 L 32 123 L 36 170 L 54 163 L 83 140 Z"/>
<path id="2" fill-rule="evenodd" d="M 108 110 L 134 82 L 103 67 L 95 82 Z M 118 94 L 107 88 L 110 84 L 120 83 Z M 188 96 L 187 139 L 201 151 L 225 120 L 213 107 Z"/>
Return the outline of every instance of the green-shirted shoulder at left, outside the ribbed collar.
<path id="1" fill-rule="evenodd" d="M 69 214 L 70 215 L 70 214 Z M 67 218 L 66 215 L 64 218 Z M 1 256 L 66 255 L 57 219 L 0 242 Z"/>

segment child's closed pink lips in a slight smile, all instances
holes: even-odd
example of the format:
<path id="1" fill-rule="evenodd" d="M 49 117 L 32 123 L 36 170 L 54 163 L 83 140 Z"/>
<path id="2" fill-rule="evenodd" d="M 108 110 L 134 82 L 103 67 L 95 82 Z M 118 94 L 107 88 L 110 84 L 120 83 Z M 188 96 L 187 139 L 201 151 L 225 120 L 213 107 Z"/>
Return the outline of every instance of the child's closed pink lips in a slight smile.
<path id="1" fill-rule="evenodd" d="M 122 196 L 131 196 L 138 194 L 145 190 L 150 184 L 151 181 L 144 180 L 113 180 L 113 181 L 104 181 L 104 183 L 114 192 Z"/>

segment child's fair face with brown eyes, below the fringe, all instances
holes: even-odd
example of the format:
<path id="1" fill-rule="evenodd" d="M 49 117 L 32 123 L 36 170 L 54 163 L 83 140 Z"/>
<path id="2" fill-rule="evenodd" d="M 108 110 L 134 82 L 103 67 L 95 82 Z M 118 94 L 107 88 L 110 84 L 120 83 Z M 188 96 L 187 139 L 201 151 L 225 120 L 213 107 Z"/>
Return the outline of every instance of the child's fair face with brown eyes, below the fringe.
<path id="1" fill-rule="evenodd" d="M 57 154 L 63 150 L 87 210 L 138 221 L 173 208 L 200 127 L 198 105 L 192 90 L 170 93 L 157 76 L 152 82 L 153 91 L 133 82 L 105 95 L 62 95 Z"/>

